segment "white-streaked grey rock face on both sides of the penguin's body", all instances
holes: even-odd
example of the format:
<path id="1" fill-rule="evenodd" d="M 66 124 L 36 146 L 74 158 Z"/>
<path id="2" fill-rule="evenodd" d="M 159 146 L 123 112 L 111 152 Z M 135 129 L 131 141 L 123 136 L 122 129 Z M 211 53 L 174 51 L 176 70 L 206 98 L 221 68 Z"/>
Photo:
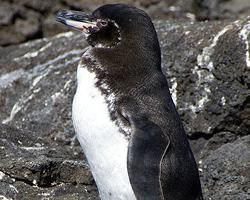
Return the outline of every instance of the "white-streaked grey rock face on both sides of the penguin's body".
<path id="1" fill-rule="evenodd" d="M 249 199 L 250 19 L 155 26 L 205 199 Z M 0 48 L 0 198 L 98 199 L 71 122 L 86 46 L 67 32 Z"/>

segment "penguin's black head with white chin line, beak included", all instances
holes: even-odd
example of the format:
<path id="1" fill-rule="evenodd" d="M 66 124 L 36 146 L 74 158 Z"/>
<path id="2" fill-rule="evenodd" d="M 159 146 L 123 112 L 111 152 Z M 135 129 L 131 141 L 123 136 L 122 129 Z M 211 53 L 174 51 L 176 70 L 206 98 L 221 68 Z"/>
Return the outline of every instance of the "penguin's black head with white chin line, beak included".
<path id="1" fill-rule="evenodd" d="M 159 51 L 158 39 L 150 17 L 142 10 L 125 4 L 107 4 L 92 14 L 60 11 L 57 21 L 80 30 L 88 43 L 96 48 L 119 45 Z"/>

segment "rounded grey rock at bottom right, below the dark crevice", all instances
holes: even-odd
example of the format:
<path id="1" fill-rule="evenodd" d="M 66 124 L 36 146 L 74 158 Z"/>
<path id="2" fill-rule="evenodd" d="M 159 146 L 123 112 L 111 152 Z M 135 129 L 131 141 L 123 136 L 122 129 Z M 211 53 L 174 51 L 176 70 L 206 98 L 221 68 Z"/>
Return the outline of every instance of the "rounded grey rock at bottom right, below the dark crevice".
<path id="1" fill-rule="evenodd" d="M 250 198 L 250 135 L 211 152 L 202 162 L 205 199 Z"/>

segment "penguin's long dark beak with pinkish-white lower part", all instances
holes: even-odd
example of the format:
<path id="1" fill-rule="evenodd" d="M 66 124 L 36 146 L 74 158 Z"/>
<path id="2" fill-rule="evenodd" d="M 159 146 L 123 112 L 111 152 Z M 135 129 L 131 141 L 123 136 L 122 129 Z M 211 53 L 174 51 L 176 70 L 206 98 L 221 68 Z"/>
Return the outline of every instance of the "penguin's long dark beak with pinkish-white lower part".
<path id="1" fill-rule="evenodd" d="M 78 11 L 59 11 L 56 14 L 56 20 L 86 34 L 100 30 L 97 20 L 92 15 Z"/>

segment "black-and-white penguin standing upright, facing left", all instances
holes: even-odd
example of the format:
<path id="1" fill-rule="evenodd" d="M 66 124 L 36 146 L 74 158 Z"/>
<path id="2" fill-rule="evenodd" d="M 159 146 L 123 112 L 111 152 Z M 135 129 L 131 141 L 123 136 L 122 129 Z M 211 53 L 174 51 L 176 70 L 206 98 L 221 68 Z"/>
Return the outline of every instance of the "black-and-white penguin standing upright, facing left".
<path id="1" fill-rule="evenodd" d="M 150 17 L 107 4 L 59 11 L 84 33 L 72 119 L 102 200 L 202 199 L 197 164 L 161 70 Z"/>

